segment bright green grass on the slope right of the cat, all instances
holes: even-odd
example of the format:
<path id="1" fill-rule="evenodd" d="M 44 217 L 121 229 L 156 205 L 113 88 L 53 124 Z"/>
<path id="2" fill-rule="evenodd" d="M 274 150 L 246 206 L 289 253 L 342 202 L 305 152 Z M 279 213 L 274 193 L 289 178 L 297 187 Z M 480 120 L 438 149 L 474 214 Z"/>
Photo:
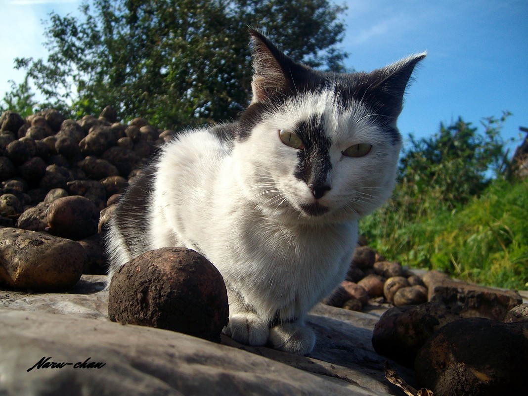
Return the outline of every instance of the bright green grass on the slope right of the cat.
<path id="1" fill-rule="evenodd" d="M 528 289 L 527 181 L 496 180 L 466 205 L 421 210 L 412 222 L 395 202 L 360 225 L 385 257 L 482 285 Z M 427 196 L 421 202 L 434 205 Z"/>

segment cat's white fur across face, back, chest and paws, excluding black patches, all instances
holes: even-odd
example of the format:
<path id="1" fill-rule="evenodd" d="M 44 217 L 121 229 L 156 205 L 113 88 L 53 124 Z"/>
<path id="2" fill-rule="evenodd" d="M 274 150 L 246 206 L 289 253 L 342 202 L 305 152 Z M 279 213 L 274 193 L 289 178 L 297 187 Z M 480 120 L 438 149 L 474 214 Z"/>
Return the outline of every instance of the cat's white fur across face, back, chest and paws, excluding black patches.
<path id="1" fill-rule="evenodd" d="M 400 147 L 369 122 L 360 103 L 350 109 L 339 109 L 332 91 L 323 91 L 277 108 L 242 142 L 193 130 L 159 157 L 148 208 L 150 248 L 194 249 L 220 270 L 230 303 L 224 332 L 240 342 L 309 353 L 315 336 L 304 327 L 306 313 L 344 279 L 357 220 L 391 194 Z M 278 137 L 278 129 L 314 114 L 324 115 L 332 141 L 332 189 L 319 200 L 329 211 L 320 216 L 300 210 L 315 198 L 293 175 L 297 150 Z M 373 148 L 361 158 L 341 154 L 358 143 Z M 139 254 L 126 251 L 119 232 L 112 226 L 110 275 Z"/>

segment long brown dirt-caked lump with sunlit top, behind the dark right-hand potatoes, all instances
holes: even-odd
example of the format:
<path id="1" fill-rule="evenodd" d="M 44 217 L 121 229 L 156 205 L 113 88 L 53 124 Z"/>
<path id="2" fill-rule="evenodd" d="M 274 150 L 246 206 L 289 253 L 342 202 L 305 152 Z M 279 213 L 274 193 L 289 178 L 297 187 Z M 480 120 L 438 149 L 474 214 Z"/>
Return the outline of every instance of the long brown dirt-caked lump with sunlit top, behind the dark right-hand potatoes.
<path id="1" fill-rule="evenodd" d="M 510 309 L 523 302 L 515 290 L 472 285 L 438 271 L 429 271 L 422 279 L 429 289 L 429 301 L 445 304 L 463 317 L 486 317 L 502 322 Z"/>

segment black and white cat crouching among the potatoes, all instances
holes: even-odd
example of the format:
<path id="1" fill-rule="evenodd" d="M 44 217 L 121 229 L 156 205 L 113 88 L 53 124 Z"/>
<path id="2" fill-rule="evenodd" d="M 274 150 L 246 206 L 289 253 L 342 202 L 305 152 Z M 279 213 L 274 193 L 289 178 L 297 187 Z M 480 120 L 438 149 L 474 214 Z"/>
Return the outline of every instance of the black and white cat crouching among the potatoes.
<path id="1" fill-rule="evenodd" d="M 344 279 L 357 220 L 394 187 L 403 93 L 425 53 L 371 73 L 323 73 L 251 31 L 253 98 L 239 121 L 175 137 L 119 202 L 111 268 L 194 249 L 229 296 L 224 332 L 307 354 L 310 308 Z"/>

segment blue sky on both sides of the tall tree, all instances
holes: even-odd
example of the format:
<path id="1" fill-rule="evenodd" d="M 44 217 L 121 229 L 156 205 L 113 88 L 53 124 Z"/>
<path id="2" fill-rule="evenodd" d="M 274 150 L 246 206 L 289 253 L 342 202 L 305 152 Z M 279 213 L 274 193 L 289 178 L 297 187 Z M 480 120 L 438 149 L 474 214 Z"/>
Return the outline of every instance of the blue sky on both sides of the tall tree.
<path id="1" fill-rule="evenodd" d="M 528 2 L 526 0 L 337 0 L 348 6 L 342 48 L 348 67 L 370 71 L 426 50 L 428 56 L 408 90 L 399 119 L 404 136 L 430 136 L 440 121 L 462 116 L 479 125 L 509 110 L 503 137 L 528 127 Z M 2 58 L 0 96 L 16 56 L 44 57 L 44 27 L 50 11 L 77 13 L 80 0 L 0 0 Z M 515 144 L 509 145 L 514 148 Z"/>

